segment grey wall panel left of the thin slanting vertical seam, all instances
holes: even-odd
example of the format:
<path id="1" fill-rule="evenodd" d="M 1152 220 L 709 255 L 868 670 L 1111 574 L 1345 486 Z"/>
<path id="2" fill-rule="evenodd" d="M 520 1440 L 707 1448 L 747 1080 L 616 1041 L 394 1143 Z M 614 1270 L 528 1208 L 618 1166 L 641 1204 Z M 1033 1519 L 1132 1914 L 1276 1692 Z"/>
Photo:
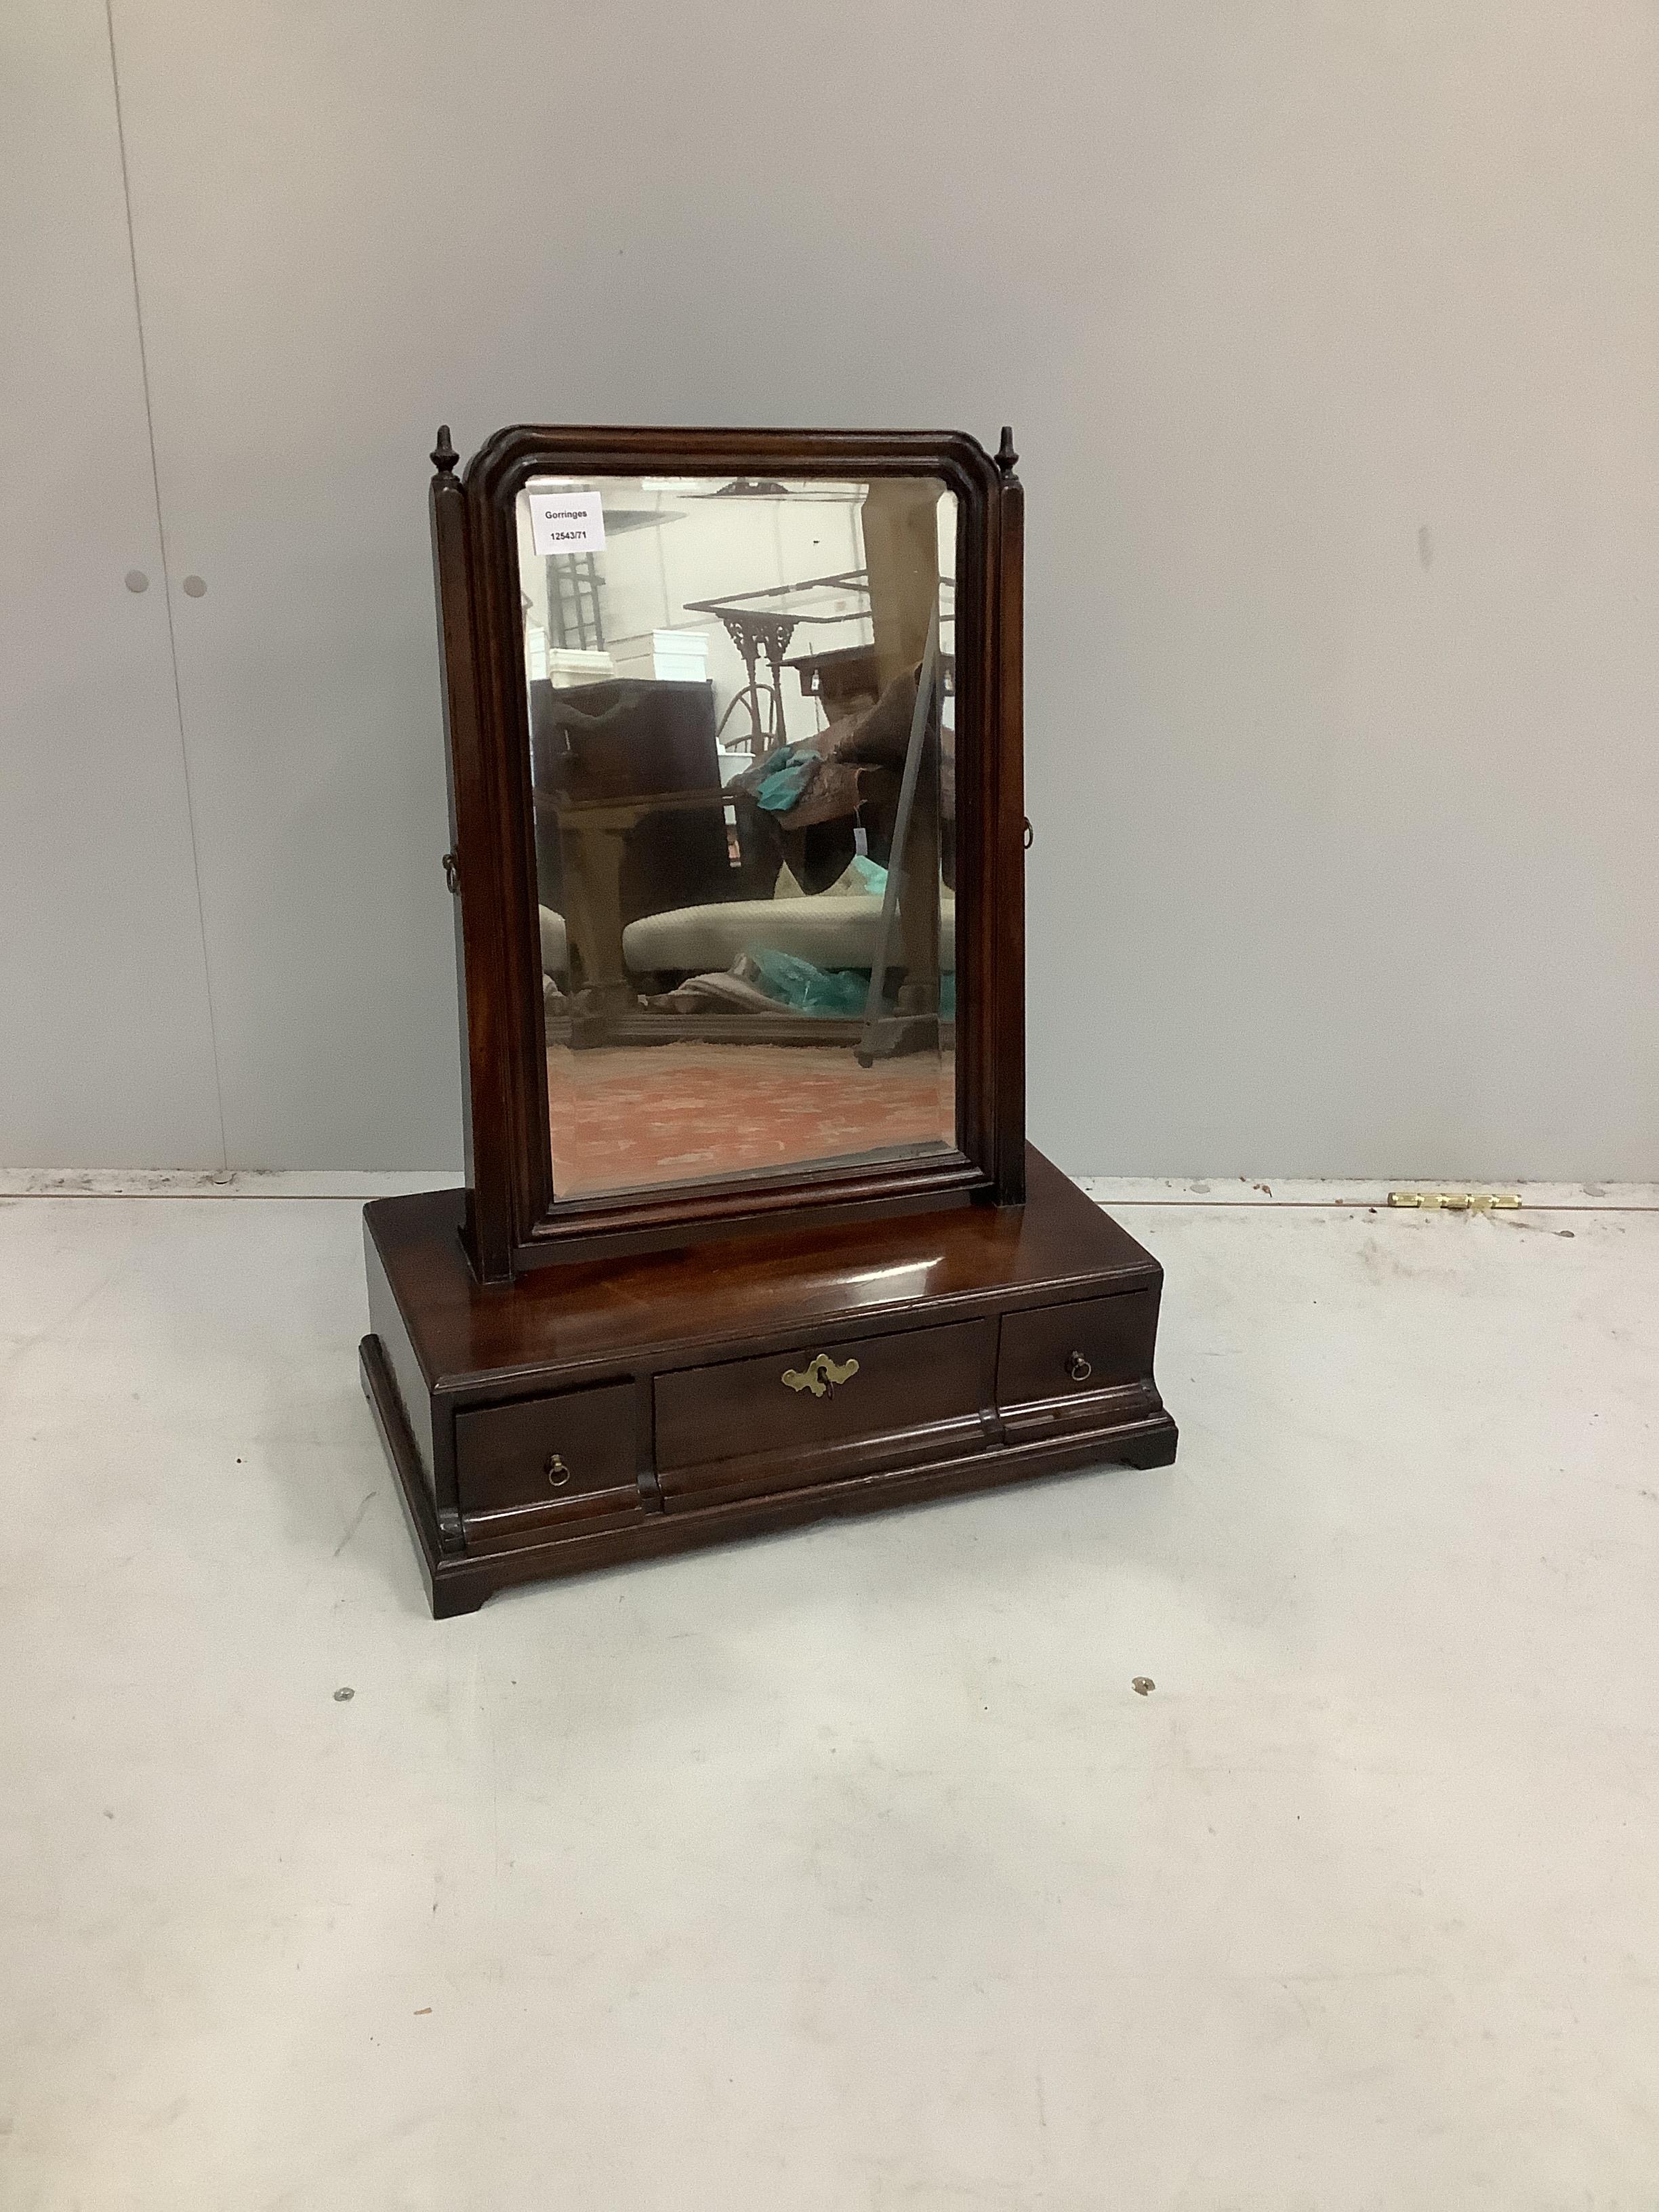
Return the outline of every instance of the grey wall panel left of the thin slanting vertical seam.
<path id="1" fill-rule="evenodd" d="M 0 9 L 0 1161 L 223 1166 L 100 0 Z"/>

